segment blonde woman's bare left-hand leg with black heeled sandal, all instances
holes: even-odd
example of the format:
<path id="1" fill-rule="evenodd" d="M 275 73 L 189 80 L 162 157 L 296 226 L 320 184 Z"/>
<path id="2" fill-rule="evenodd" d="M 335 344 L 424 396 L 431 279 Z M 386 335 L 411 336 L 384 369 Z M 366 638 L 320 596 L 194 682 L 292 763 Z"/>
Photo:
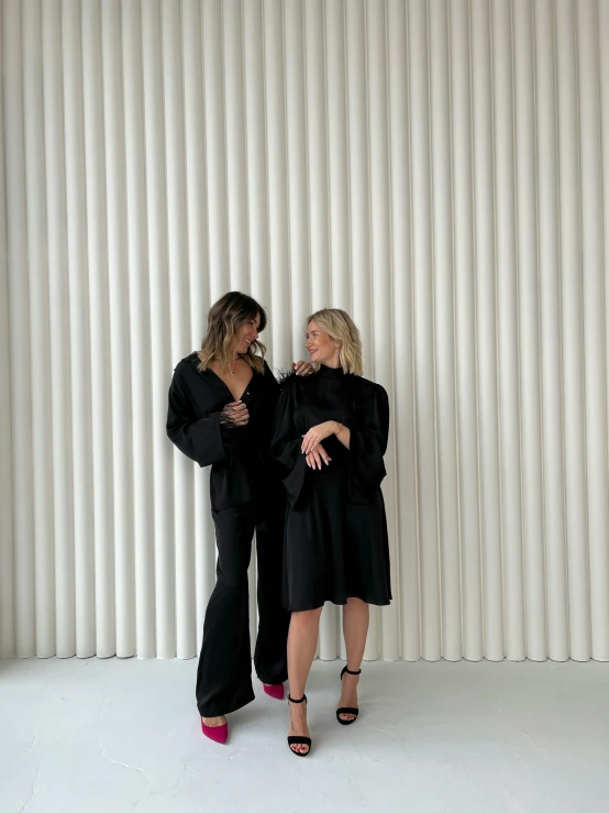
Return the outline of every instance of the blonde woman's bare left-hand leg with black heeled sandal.
<path id="1" fill-rule="evenodd" d="M 319 618 L 322 607 L 307 609 L 301 613 L 292 613 L 290 631 L 288 634 L 288 680 L 290 682 L 290 695 L 300 700 L 304 694 L 307 678 L 311 663 L 315 656 L 319 634 Z M 290 703 L 290 736 L 309 737 L 307 726 L 307 705 L 304 703 Z M 292 745 L 292 750 L 306 754 L 307 745 Z"/>

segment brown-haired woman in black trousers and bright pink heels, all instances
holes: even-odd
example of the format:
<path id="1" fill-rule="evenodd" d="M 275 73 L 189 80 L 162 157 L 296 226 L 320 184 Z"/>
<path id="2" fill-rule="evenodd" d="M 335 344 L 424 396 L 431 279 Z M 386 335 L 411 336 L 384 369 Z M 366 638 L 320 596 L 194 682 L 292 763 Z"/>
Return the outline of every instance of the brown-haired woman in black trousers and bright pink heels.
<path id="1" fill-rule="evenodd" d="M 255 299 L 225 294 L 209 311 L 201 350 L 179 362 L 169 388 L 167 435 L 199 465 L 211 465 L 218 578 L 206 612 L 196 694 L 203 734 L 221 744 L 229 735 L 225 715 L 254 700 L 247 585 L 254 531 L 259 616 L 254 667 L 264 691 L 278 700 L 287 678 L 285 497 L 268 452 L 279 384 L 258 340 L 265 326 L 265 310 Z M 308 362 L 292 367 L 300 375 L 311 371 Z"/>

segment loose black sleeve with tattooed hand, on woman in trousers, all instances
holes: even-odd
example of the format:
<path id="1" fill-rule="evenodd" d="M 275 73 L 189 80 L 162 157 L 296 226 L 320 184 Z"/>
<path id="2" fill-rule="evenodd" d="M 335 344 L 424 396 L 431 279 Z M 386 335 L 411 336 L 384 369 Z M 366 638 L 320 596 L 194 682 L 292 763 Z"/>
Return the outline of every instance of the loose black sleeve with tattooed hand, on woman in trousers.
<path id="1" fill-rule="evenodd" d="M 169 387 L 167 436 L 200 466 L 218 463 L 226 457 L 220 429 L 220 413 L 210 413 L 198 419 L 177 371 Z"/>

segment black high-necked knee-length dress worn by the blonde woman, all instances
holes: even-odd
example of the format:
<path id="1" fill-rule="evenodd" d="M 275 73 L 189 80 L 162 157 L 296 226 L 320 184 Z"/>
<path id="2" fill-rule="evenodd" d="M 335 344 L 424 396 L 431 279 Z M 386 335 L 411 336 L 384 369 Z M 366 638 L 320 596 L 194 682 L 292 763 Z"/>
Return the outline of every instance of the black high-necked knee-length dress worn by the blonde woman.
<path id="1" fill-rule="evenodd" d="M 331 436 L 332 459 L 310 469 L 302 436 L 325 420 L 351 430 L 350 449 Z M 326 601 L 391 601 L 389 545 L 380 482 L 389 431 L 389 402 L 379 385 L 342 369 L 321 366 L 285 383 L 275 415 L 272 455 L 280 463 L 288 496 L 284 553 L 284 605 L 314 609 Z"/>

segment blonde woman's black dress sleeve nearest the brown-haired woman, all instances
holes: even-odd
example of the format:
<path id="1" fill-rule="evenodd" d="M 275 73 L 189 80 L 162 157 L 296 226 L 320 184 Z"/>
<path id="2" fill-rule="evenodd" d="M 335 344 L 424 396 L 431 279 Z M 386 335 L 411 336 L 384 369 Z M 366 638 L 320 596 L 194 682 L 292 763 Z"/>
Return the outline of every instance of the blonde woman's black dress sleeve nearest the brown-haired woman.
<path id="1" fill-rule="evenodd" d="M 270 457 L 279 463 L 281 479 L 291 505 L 300 496 L 307 466 L 304 454 L 301 451 L 302 438 L 294 422 L 295 407 L 296 382 L 288 378 L 281 386 L 281 394 L 275 410 Z"/>

